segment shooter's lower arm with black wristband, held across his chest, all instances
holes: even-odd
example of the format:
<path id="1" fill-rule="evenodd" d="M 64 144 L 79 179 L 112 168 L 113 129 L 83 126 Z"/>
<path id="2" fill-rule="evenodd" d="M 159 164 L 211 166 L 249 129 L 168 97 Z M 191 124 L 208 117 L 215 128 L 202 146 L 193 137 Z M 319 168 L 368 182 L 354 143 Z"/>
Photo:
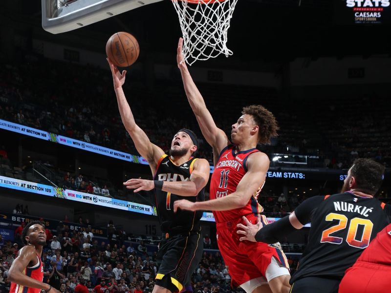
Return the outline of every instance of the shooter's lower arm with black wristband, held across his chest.
<path id="1" fill-rule="evenodd" d="M 124 182 L 126 188 L 140 190 L 151 190 L 161 188 L 163 191 L 171 192 L 181 196 L 196 196 L 209 180 L 210 167 L 205 159 L 197 159 L 193 165 L 190 181 L 153 181 L 145 179 L 130 179 Z M 159 184 L 161 186 L 159 186 Z"/>

